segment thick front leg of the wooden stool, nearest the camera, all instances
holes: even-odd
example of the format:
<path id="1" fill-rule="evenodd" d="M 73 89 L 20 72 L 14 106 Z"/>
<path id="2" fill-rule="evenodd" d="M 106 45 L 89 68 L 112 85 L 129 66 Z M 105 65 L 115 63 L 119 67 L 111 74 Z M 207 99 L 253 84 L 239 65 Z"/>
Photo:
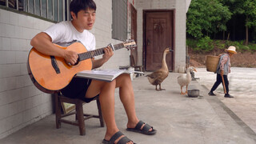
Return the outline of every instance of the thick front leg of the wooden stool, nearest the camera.
<path id="1" fill-rule="evenodd" d="M 85 118 L 83 117 L 83 110 L 82 110 L 82 102 L 78 102 L 75 105 L 75 109 L 77 112 L 77 118 L 78 118 L 78 126 L 80 135 L 86 135 L 86 126 L 85 126 Z"/>

